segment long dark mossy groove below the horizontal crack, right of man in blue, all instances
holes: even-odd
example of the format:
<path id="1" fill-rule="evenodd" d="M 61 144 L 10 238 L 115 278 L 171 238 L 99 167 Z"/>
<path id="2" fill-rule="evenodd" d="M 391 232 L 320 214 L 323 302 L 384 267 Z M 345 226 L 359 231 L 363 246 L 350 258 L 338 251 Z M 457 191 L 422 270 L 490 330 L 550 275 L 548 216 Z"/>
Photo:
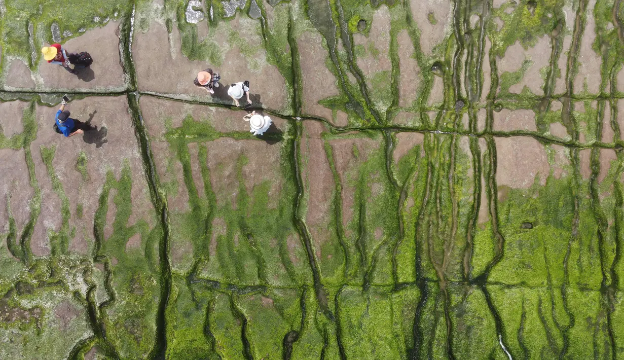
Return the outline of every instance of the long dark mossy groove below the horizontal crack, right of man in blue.
<path id="1" fill-rule="evenodd" d="M 167 350 L 167 319 L 165 311 L 169 302 L 171 293 L 171 264 L 169 260 L 169 213 L 167 209 L 167 200 L 162 197 L 162 193 L 158 187 L 158 175 L 152 157 L 152 149 L 150 147 L 149 137 L 139 108 L 139 99 L 137 94 L 128 94 L 128 105 L 130 114 L 132 115 L 132 123 L 134 125 L 135 135 L 139 142 L 143 165 L 145 169 L 145 177 L 150 189 L 150 195 L 155 211 L 160 214 L 160 225 L 163 228 L 163 235 L 158 245 L 158 253 L 160 256 L 160 300 L 158 302 L 158 312 L 156 318 L 156 341 L 154 348 L 150 351 L 149 359 L 163 359 Z"/>

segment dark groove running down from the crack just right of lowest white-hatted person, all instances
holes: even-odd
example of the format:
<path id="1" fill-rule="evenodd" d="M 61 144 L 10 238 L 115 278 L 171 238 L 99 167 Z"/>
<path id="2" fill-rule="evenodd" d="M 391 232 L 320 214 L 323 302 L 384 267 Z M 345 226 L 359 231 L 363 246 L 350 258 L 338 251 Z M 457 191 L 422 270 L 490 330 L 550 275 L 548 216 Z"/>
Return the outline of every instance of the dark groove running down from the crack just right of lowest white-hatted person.
<path id="1" fill-rule="evenodd" d="M 329 306 L 327 303 L 327 294 L 325 289 L 323 288 L 323 284 L 321 283 L 321 275 L 318 268 L 318 263 L 316 263 L 316 258 L 314 257 L 310 231 L 308 230 L 308 226 L 306 225 L 305 220 L 303 220 L 303 215 L 300 214 L 301 202 L 303 200 L 303 197 L 305 196 L 303 179 L 301 178 L 301 169 L 299 165 L 301 158 L 299 148 L 299 141 L 301 139 L 301 124 L 298 122 L 293 122 L 293 127 L 295 128 L 296 135 L 295 137 L 293 137 L 293 155 L 291 158 L 291 162 L 293 163 L 293 169 L 295 170 L 295 186 L 297 188 L 297 196 L 295 197 L 295 203 L 293 207 L 293 220 L 295 221 L 297 231 L 301 240 L 303 241 L 303 245 L 306 248 L 306 253 L 308 254 L 308 263 L 310 263 L 310 270 L 312 271 L 316 299 L 318 300 L 319 306 L 323 313 L 329 319 L 333 319 L 334 316 L 331 313 L 331 310 L 329 310 Z"/>

